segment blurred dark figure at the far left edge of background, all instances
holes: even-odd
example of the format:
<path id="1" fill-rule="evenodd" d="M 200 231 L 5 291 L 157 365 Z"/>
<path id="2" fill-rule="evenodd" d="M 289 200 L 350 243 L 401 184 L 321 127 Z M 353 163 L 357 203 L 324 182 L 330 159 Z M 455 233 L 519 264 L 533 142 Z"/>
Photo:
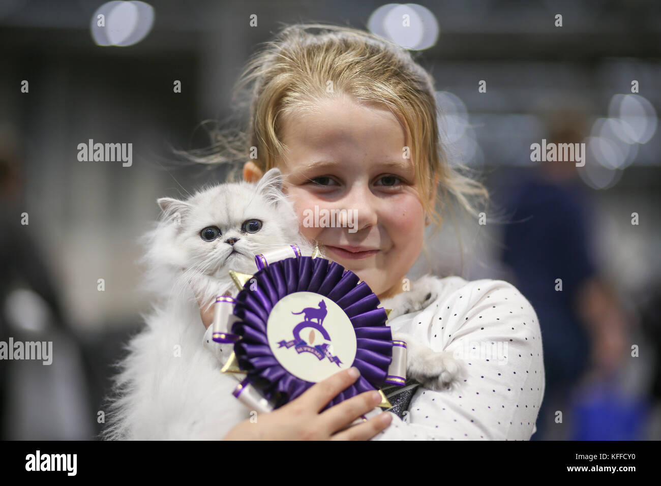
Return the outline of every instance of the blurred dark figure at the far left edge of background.
<path id="1" fill-rule="evenodd" d="M 65 321 L 34 233 L 22 224 L 27 201 L 17 147 L 15 131 L 0 125 L 0 341 L 52 341 L 54 356 L 49 366 L 39 360 L 0 360 L 0 439 L 89 438 L 91 419 L 81 419 L 76 405 L 89 400 L 87 383 L 71 370 L 82 368 L 89 381 L 90 367 Z M 35 216 L 29 214 L 27 221 L 39 227 Z M 48 235 L 41 236 L 48 241 Z"/>

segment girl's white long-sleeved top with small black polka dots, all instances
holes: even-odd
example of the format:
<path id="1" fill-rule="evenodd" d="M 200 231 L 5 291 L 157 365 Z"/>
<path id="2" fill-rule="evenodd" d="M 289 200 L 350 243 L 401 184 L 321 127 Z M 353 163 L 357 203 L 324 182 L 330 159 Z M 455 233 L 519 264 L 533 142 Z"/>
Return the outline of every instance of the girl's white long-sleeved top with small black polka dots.
<path id="1" fill-rule="evenodd" d="M 393 333 L 453 352 L 465 374 L 443 391 L 418 386 L 404 420 L 393 413 L 391 425 L 372 440 L 529 440 L 545 388 L 533 307 L 502 280 L 425 276 L 416 285 L 416 294 L 431 302 L 394 319 L 391 314 Z"/>

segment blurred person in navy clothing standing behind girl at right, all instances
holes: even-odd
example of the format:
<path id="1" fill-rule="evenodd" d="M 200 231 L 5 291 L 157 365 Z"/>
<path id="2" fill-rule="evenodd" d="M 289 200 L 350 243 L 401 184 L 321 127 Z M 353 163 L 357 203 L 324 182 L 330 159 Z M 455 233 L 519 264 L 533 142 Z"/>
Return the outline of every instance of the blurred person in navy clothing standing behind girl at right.
<path id="1" fill-rule="evenodd" d="M 583 142 L 588 117 L 577 106 L 544 110 L 547 145 Z M 578 430 L 580 413 L 572 413 L 574 391 L 610 382 L 627 356 L 627 317 L 596 263 L 585 188 L 575 161 L 544 161 L 514 181 L 502 202 L 509 220 L 502 260 L 537 310 L 543 338 L 547 392 L 531 440 L 590 440 Z"/>

